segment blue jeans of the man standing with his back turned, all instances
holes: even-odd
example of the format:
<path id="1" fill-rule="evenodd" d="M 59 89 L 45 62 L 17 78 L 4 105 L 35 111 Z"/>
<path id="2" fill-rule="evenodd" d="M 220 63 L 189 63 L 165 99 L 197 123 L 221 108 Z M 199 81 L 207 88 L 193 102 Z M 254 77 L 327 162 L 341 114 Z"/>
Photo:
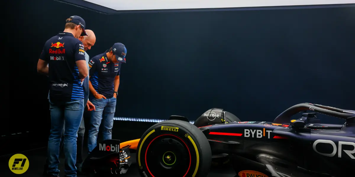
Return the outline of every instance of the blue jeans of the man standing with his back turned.
<path id="1" fill-rule="evenodd" d="M 51 102 L 51 129 L 48 139 L 48 175 L 58 176 L 59 144 L 64 127 L 65 172 L 67 177 L 76 177 L 76 139 L 84 113 L 84 99 L 70 102 Z"/>

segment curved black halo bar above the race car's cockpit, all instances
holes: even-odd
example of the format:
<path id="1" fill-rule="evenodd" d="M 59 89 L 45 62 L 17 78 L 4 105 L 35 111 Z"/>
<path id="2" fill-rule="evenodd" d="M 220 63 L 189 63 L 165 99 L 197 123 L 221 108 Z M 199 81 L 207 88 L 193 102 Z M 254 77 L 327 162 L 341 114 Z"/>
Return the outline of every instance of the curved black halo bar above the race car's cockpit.
<path id="1" fill-rule="evenodd" d="M 290 122 L 291 116 L 302 112 L 302 111 L 314 111 L 317 113 L 333 116 L 336 118 L 340 119 L 345 119 L 346 124 L 353 124 L 354 122 L 354 117 L 355 117 L 355 112 L 352 110 L 344 110 L 344 109 L 339 109 L 339 108 L 333 108 L 329 106 L 324 106 L 320 104 L 312 104 L 312 103 L 301 103 L 301 104 L 296 104 L 293 107 L 290 107 L 286 109 L 283 113 L 281 113 L 279 116 L 277 116 L 274 119 L 274 123 L 277 124 L 285 124 Z"/>

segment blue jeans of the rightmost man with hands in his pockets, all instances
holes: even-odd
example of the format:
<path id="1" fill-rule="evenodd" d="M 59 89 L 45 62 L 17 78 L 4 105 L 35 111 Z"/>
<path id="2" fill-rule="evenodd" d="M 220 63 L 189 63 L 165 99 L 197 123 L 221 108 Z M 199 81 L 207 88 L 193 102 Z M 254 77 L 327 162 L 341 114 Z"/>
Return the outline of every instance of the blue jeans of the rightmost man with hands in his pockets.
<path id="1" fill-rule="evenodd" d="M 88 132 L 89 153 L 92 152 L 92 150 L 97 145 L 97 133 L 99 132 L 101 119 L 103 120 L 103 140 L 112 138 L 113 118 L 116 110 L 116 98 L 93 98 L 91 102 L 95 105 L 95 111 L 93 110 L 91 113 L 91 121 Z"/>

